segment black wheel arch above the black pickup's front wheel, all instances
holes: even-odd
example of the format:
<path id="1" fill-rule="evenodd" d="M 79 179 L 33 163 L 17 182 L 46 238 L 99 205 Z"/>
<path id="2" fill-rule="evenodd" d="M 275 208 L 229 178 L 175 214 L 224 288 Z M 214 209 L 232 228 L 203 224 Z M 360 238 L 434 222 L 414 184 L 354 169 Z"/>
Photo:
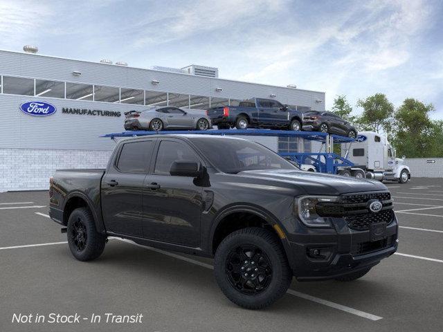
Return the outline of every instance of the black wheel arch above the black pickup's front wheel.
<path id="1" fill-rule="evenodd" d="M 239 221 L 239 218 L 242 220 Z M 268 228 L 280 239 L 287 259 L 291 264 L 292 255 L 289 241 L 282 224 L 271 212 L 257 205 L 230 205 L 217 215 L 210 230 L 210 253 L 215 254 L 219 244 L 228 234 L 242 228 L 257 226 Z"/>

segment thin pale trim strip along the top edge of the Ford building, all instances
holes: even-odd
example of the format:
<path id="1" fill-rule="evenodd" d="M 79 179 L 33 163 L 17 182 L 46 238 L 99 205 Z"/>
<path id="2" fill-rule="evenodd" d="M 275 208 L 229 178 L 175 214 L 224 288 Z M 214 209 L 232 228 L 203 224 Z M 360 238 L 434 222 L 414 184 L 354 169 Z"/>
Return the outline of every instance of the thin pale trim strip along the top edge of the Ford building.
<path id="1" fill-rule="evenodd" d="M 186 75 L 186 76 L 192 76 L 192 77 L 201 77 L 201 78 L 206 78 L 208 80 L 221 80 L 221 81 L 227 81 L 227 82 L 237 82 L 237 83 L 261 85 L 261 86 L 269 86 L 271 88 L 281 88 L 281 89 L 287 89 L 289 91 L 307 91 L 307 92 L 315 92 L 315 93 L 325 93 L 325 91 L 307 90 L 307 89 L 298 89 L 298 88 L 294 89 L 294 88 L 289 88 L 287 86 L 279 86 L 279 85 L 271 85 L 271 84 L 263 84 L 263 83 L 254 83 L 254 82 L 247 82 L 247 81 L 240 81 L 240 80 L 230 80 L 228 78 L 220 78 L 220 77 L 206 77 L 206 76 L 192 75 L 192 74 L 188 74 L 188 73 L 174 73 L 174 72 L 170 72 L 170 71 L 159 71 L 157 69 L 149 69 L 149 68 L 141 68 L 141 67 L 133 67 L 133 66 L 118 66 L 117 64 L 104 64 L 102 62 L 93 62 L 93 61 L 88 61 L 88 60 L 72 59 L 70 57 L 55 57 L 54 55 L 26 53 L 26 52 L 19 52 L 17 50 L 1 50 L 0 49 L 0 52 L 17 53 L 17 54 L 20 54 L 20 55 L 28 55 L 28 56 L 35 56 L 35 57 L 51 57 L 53 59 L 62 59 L 62 60 L 70 60 L 70 61 L 77 61 L 77 62 L 86 62 L 88 64 L 98 64 L 98 65 L 102 65 L 102 66 L 115 66 L 115 67 L 121 67 L 121 68 L 134 68 L 134 69 L 139 69 L 139 70 L 142 70 L 142 71 L 154 71 L 154 72 L 159 72 L 159 73 L 171 73 L 171 74 L 175 74 L 175 75 Z M 212 68 L 212 67 L 210 67 L 210 68 Z"/>

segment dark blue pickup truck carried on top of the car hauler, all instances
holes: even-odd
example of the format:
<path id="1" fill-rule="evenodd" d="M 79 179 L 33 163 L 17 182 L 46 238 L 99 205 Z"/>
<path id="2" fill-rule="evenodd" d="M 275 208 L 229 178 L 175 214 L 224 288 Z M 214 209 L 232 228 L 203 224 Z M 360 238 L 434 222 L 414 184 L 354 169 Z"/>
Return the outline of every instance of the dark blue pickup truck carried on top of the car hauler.
<path id="1" fill-rule="evenodd" d="M 277 100 L 252 98 L 239 105 L 214 107 L 206 114 L 218 129 L 271 128 L 302 130 L 303 113 Z"/>

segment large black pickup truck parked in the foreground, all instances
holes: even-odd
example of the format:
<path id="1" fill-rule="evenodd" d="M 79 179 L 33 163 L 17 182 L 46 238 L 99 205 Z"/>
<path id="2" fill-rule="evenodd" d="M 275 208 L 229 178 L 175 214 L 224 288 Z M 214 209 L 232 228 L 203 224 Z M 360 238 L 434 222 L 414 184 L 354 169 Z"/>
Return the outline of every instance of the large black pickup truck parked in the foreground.
<path id="1" fill-rule="evenodd" d="M 249 140 L 153 135 L 118 142 L 107 169 L 57 170 L 50 215 L 81 261 L 107 237 L 215 257 L 235 304 L 264 308 L 300 281 L 362 277 L 397 250 L 385 185 L 302 172 Z"/>

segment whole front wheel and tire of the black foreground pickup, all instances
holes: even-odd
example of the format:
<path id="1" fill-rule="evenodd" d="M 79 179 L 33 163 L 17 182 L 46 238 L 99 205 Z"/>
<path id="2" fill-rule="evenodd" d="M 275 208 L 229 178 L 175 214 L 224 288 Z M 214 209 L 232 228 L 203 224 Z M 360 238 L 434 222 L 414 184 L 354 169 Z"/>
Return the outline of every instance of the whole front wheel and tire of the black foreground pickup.
<path id="1" fill-rule="evenodd" d="M 214 271 L 224 295 L 248 309 L 273 304 L 286 293 L 292 280 L 280 240 L 264 228 L 243 228 L 229 234 L 215 252 Z"/>

